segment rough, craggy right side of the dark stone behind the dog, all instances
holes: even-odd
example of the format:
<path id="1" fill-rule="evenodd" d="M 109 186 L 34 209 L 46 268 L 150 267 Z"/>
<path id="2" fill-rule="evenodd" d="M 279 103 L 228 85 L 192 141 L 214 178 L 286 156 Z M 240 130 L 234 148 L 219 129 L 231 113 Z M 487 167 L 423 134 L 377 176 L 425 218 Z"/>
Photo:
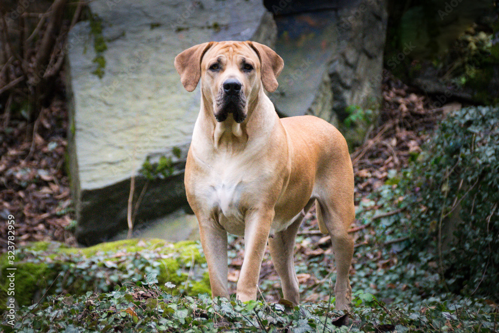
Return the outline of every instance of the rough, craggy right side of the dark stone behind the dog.
<path id="1" fill-rule="evenodd" d="M 340 120 L 347 106 L 368 108 L 380 96 L 387 24 L 386 1 L 356 1 L 338 11 L 340 50 L 328 74 Z"/>

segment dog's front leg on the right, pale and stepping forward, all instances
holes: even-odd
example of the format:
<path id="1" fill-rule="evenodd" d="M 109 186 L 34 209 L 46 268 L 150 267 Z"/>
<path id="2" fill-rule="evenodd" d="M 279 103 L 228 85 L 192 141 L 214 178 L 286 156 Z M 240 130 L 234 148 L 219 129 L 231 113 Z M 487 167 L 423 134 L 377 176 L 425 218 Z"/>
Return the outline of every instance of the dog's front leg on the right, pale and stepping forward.
<path id="1" fill-rule="evenodd" d="M 242 302 L 256 300 L 261 261 L 273 218 L 273 209 L 250 211 L 245 217 L 245 258 L 237 288 L 238 300 Z"/>

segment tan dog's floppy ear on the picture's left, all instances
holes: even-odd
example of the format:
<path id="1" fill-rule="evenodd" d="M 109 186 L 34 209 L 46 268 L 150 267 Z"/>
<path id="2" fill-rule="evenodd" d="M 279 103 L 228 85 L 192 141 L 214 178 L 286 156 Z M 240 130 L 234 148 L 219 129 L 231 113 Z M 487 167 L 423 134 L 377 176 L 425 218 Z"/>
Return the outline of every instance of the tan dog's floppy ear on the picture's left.
<path id="1" fill-rule="evenodd" d="M 175 57 L 175 69 L 187 91 L 196 89 L 201 78 L 201 59 L 212 45 L 213 41 L 194 45 Z"/>

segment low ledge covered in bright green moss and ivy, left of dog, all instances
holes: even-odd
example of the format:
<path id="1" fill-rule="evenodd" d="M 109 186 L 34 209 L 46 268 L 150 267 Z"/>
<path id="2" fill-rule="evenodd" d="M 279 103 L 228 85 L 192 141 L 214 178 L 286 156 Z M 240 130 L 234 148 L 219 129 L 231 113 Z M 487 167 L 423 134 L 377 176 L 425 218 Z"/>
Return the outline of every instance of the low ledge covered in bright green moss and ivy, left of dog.
<path id="1" fill-rule="evenodd" d="M 68 248 L 57 242 L 31 243 L 16 251 L 15 298 L 19 305 L 30 305 L 54 279 L 47 295 L 78 296 L 87 291 L 110 292 L 127 281 L 145 281 L 147 274 L 155 272 L 159 288 L 168 290 L 165 283 L 171 282 L 177 286 L 174 293 L 207 293 L 208 273 L 200 267 L 206 260 L 199 249 L 195 242 L 172 244 L 160 239 L 121 240 L 88 248 Z M 0 257 L 2 272 L 6 272 L 4 256 Z M 2 300 L 8 291 L 5 276 L 0 276 Z M 5 306 L 0 304 L 0 312 Z"/>

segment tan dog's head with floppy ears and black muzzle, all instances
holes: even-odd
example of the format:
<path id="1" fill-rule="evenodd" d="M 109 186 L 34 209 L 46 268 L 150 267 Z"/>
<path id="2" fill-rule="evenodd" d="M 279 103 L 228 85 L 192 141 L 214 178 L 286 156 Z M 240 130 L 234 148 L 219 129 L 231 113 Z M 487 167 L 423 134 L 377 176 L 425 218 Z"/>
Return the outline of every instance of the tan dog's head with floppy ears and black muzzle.
<path id="1" fill-rule="evenodd" d="M 217 121 L 229 114 L 238 123 L 248 117 L 261 85 L 277 89 L 277 76 L 284 62 L 270 47 L 253 41 L 222 41 L 195 45 L 175 57 L 175 68 L 187 91 L 201 78 L 205 104 L 211 104 Z"/>

